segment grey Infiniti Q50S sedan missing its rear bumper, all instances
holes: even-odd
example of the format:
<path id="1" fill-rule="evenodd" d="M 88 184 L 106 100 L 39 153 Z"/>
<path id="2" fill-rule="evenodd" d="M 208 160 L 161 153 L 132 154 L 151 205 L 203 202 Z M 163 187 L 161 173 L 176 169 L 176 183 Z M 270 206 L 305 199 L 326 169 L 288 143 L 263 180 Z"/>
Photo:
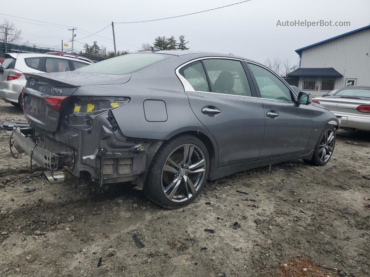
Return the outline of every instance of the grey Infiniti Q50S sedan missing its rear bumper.
<path id="1" fill-rule="evenodd" d="M 296 159 L 324 165 L 339 127 L 307 93 L 233 55 L 139 52 L 25 75 L 31 127 L 13 136 L 51 170 L 48 182 L 131 181 L 166 208 L 189 204 L 207 179 Z"/>

